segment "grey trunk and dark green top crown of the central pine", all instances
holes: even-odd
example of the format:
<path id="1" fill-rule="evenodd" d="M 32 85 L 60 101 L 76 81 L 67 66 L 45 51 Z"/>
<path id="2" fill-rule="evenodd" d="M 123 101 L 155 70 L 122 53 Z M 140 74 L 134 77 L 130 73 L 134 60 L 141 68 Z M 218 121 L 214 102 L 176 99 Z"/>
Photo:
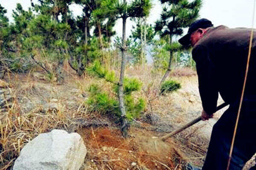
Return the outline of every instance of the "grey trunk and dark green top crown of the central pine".
<path id="1" fill-rule="evenodd" d="M 131 3 L 127 3 L 126 0 L 103 0 L 101 3 L 101 8 L 94 11 L 94 16 L 97 18 L 105 17 L 115 17 L 116 19 L 122 19 L 122 46 L 120 47 L 122 52 L 121 69 L 120 69 L 120 79 L 119 79 L 119 108 L 121 111 L 121 130 L 122 135 L 128 136 L 128 120 L 126 117 L 125 105 L 124 105 L 124 92 L 123 92 L 123 82 L 125 75 L 125 63 L 127 51 L 126 47 L 126 20 L 129 17 L 144 17 L 148 16 L 151 9 L 150 0 L 134 0 Z"/>

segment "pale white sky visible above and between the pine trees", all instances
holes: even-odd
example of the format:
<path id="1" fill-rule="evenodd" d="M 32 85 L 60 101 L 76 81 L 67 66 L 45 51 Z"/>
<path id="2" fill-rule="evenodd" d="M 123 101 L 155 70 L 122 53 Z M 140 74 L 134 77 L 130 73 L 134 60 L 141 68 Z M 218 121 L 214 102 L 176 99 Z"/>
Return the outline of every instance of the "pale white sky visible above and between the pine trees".
<path id="1" fill-rule="evenodd" d="M 35 2 L 35 0 L 33 0 Z M 254 0 L 204 0 L 200 11 L 200 18 L 211 20 L 214 26 L 226 25 L 230 28 L 252 27 Z M 7 9 L 7 17 L 12 21 L 12 10 L 16 3 L 20 3 L 24 9 L 30 6 L 30 0 L 0 0 L 0 4 Z M 71 6 L 74 16 L 81 14 L 81 7 L 75 4 Z M 153 8 L 148 17 L 148 23 L 154 22 L 160 17 L 161 5 L 159 0 L 153 0 Z M 256 23 L 256 19 L 255 22 Z M 131 34 L 131 21 L 127 22 L 127 35 Z M 254 28 L 256 24 L 254 24 Z M 117 35 L 122 35 L 122 20 L 116 22 L 114 28 Z"/>

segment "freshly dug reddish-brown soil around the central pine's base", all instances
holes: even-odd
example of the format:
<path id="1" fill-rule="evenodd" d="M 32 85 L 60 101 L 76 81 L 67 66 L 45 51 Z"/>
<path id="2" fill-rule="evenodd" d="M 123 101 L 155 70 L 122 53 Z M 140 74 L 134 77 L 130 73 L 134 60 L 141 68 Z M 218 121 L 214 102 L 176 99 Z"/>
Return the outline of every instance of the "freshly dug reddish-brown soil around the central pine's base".
<path id="1" fill-rule="evenodd" d="M 87 161 L 99 169 L 171 170 L 182 163 L 180 152 L 170 142 L 155 138 L 152 132 L 131 128 L 128 139 L 119 130 L 108 128 L 81 128 L 77 132 L 87 146 Z"/>

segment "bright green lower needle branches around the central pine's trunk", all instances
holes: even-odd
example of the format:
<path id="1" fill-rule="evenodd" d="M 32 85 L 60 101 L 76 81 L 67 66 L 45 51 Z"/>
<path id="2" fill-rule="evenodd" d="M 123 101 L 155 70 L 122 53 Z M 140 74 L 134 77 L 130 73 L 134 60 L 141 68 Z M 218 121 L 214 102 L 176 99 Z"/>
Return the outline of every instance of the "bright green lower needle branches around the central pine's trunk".
<path id="1" fill-rule="evenodd" d="M 115 74 L 113 71 L 108 71 L 100 65 L 99 61 L 94 61 L 91 64 L 87 71 L 91 75 L 96 77 L 104 78 L 106 81 L 114 82 L 116 80 Z M 124 79 L 124 100 L 125 108 L 127 111 L 127 118 L 132 120 L 140 116 L 140 113 L 145 109 L 145 100 L 139 98 L 135 101 L 132 96 L 133 91 L 140 91 L 142 87 L 142 82 L 135 78 Z M 90 92 L 90 97 L 87 101 L 87 104 L 91 105 L 92 111 L 99 111 L 100 113 L 112 113 L 117 116 L 120 116 L 120 110 L 118 105 L 118 89 L 117 84 L 113 85 L 113 92 L 115 92 L 113 97 L 110 97 L 107 92 L 102 92 L 98 85 L 90 85 L 88 91 Z"/>

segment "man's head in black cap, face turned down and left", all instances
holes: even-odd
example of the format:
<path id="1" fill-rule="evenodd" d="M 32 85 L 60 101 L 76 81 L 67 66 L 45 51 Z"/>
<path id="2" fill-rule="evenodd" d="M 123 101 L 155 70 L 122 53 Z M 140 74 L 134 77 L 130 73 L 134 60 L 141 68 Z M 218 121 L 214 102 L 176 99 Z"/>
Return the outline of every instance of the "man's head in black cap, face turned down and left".
<path id="1" fill-rule="evenodd" d="M 180 44 L 183 46 L 189 46 L 190 44 L 194 46 L 195 43 L 203 37 L 203 35 L 207 31 L 206 28 L 209 28 L 211 26 L 213 26 L 212 22 L 207 19 L 203 18 L 200 20 L 196 20 L 189 26 L 188 33 L 180 38 Z"/>

